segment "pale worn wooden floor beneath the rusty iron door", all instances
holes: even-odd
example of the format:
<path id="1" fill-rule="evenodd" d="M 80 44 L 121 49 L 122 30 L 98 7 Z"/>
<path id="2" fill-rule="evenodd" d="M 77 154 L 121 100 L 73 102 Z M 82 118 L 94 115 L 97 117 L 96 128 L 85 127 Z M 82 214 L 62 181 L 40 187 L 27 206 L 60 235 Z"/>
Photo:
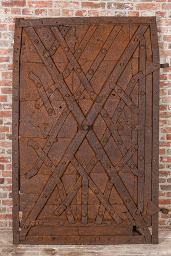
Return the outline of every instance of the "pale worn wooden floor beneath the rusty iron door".
<path id="1" fill-rule="evenodd" d="M 171 229 L 160 229 L 158 245 L 13 245 L 0 230 L 0 256 L 171 256 Z"/>

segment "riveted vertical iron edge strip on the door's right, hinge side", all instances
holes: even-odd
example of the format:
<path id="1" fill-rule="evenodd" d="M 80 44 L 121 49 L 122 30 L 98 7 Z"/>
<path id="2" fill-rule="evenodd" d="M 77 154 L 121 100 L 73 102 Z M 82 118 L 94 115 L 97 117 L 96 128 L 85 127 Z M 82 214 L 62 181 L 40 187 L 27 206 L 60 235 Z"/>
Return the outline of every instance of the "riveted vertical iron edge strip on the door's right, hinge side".
<path id="1" fill-rule="evenodd" d="M 160 63 L 157 25 L 150 24 L 150 36 L 152 42 L 153 62 Z M 159 88 L 160 70 L 153 72 L 153 100 L 152 100 L 152 201 L 158 206 L 159 185 Z M 158 213 L 152 216 L 152 243 L 158 243 Z"/>

